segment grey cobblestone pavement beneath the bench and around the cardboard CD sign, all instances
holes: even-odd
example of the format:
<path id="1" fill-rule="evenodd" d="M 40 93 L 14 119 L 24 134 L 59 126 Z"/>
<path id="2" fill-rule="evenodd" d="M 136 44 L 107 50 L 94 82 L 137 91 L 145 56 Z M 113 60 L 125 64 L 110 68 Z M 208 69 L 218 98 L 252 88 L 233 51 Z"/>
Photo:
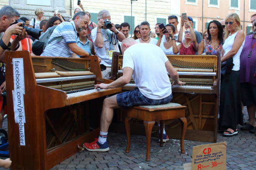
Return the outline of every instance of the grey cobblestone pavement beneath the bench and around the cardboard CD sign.
<path id="1" fill-rule="evenodd" d="M 244 119 L 248 120 L 246 110 Z M 191 162 L 192 147 L 207 144 L 186 140 L 185 154 L 180 153 L 179 140 L 169 140 L 164 147 L 159 147 L 157 138 L 151 139 L 151 161 L 145 161 L 146 137 L 131 135 L 130 153 L 124 153 L 126 136 L 110 133 L 108 153 L 80 151 L 51 170 L 183 170 L 183 163 Z M 227 169 L 256 169 L 256 136 L 246 131 L 239 131 L 238 136 L 222 137 L 218 134 L 218 142 L 227 142 Z M 0 168 L 0 170 L 2 170 Z"/>

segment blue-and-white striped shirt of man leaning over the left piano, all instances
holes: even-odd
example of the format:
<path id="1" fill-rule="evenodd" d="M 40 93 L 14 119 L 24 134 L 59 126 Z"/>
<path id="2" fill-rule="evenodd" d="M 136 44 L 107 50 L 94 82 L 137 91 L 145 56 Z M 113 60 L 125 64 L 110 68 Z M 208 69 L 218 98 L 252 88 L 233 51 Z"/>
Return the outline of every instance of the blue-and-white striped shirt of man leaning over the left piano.
<path id="1" fill-rule="evenodd" d="M 58 25 L 52 32 L 48 41 L 55 37 L 63 37 L 61 41 L 54 40 L 48 44 L 41 56 L 53 57 L 71 57 L 73 52 L 70 50 L 68 43 L 76 43 L 77 31 L 74 21 L 63 22 Z"/>

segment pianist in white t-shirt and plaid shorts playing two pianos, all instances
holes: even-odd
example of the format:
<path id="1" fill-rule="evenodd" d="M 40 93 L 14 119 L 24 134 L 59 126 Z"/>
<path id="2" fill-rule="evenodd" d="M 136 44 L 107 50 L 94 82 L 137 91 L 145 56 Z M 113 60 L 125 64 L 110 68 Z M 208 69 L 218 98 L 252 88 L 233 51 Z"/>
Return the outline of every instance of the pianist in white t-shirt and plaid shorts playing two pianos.
<path id="1" fill-rule="evenodd" d="M 104 100 L 100 136 L 94 142 L 83 145 L 89 151 L 105 152 L 109 150 L 107 135 L 115 108 L 169 103 L 172 100 L 172 88 L 167 72 L 174 80 L 174 84 L 184 84 L 179 81 L 177 71 L 160 47 L 148 43 L 137 43 L 132 38 L 126 38 L 122 42 L 122 52 L 123 76 L 110 84 L 95 85 L 95 88 L 122 87 L 131 80 L 131 76 L 137 87 Z"/>

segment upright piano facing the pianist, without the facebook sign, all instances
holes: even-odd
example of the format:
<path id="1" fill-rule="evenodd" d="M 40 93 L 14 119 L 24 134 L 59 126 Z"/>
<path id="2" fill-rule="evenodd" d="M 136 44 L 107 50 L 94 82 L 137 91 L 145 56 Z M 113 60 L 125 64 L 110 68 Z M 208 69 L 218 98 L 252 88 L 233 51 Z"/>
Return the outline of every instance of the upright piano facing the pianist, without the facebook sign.
<path id="1" fill-rule="evenodd" d="M 220 60 L 215 55 L 166 55 L 179 73 L 179 80 L 185 85 L 172 85 L 172 102 L 187 106 L 188 121 L 186 140 L 216 142 L 217 121 L 220 89 Z M 112 61 L 111 76 L 113 80 L 122 76 L 123 55 L 115 53 Z M 170 78 L 172 82 L 172 79 Z M 130 83 L 122 90 L 133 90 L 136 87 L 131 78 Z M 125 110 L 118 113 L 115 126 L 124 121 Z M 139 122 L 140 123 L 140 122 Z M 133 133 L 143 132 L 138 121 L 134 124 Z M 158 137 L 158 127 L 153 129 L 153 136 Z M 170 138 L 180 138 L 180 123 L 178 120 L 165 121 L 166 132 Z M 118 129 L 117 127 L 113 129 Z"/>

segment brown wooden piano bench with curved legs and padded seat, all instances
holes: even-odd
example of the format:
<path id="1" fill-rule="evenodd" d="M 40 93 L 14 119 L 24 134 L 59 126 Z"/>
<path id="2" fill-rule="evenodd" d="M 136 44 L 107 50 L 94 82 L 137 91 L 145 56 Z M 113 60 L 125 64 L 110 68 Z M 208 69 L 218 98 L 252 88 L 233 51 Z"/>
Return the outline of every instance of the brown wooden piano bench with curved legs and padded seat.
<path id="1" fill-rule="evenodd" d="M 130 152 L 131 134 L 130 134 L 130 120 L 132 118 L 143 120 L 146 130 L 147 152 L 146 161 L 150 161 L 150 143 L 151 131 L 156 121 L 160 121 L 160 146 L 163 146 L 163 130 L 164 120 L 179 119 L 182 124 L 182 134 L 180 139 L 181 153 L 184 153 L 184 137 L 187 130 L 187 119 L 185 117 L 186 106 L 177 103 L 167 103 L 164 105 L 148 105 L 135 106 L 127 110 L 127 117 L 125 118 L 125 130 L 127 134 L 127 148 L 125 153 Z"/>

